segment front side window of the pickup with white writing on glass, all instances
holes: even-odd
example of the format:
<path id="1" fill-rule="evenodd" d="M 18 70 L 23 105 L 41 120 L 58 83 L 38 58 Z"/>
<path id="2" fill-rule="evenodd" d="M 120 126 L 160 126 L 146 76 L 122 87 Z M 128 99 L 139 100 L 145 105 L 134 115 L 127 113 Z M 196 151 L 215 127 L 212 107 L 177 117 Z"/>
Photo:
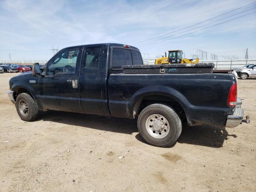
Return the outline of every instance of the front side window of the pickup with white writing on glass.
<path id="1" fill-rule="evenodd" d="M 75 73 L 78 49 L 65 50 L 58 53 L 47 65 L 46 75 L 58 73 Z"/>

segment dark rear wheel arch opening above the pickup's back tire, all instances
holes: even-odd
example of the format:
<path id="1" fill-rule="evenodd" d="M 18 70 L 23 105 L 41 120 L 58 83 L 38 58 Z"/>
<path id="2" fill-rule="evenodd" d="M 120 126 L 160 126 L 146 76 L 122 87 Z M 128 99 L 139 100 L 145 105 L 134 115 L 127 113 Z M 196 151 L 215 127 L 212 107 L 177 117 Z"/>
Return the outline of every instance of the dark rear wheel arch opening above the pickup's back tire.
<path id="1" fill-rule="evenodd" d="M 186 119 L 186 113 L 180 103 L 168 96 L 162 95 L 150 95 L 139 100 L 134 106 L 134 116 L 140 114 L 145 107 L 155 103 L 165 104 L 172 107 L 181 119 Z"/>

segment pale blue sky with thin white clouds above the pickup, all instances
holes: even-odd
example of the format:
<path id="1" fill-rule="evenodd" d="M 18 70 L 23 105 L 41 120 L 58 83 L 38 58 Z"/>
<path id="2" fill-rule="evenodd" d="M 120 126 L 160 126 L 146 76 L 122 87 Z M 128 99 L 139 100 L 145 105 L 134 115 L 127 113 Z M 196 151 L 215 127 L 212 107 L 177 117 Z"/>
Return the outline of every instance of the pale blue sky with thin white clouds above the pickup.
<path id="1" fill-rule="evenodd" d="M 138 45 L 138 42 L 143 40 L 196 24 L 253 2 L 1 0 L 0 60 L 9 59 L 9 53 L 12 60 L 48 60 L 53 56 L 50 50 L 52 46 L 61 49 L 103 42 Z M 215 20 L 254 7 L 256 4 Z M 237 16 L 254 11 L 256 9 Z M 191 54 L 196 54 L 197 49 L 207 51 L 208 55 L 212 53 L 218 56 L 236 55 L 244 58 L 248 48 L 249 57 L 256 59 L 256 13 L 200 32 L 138 48 L 145 57 L 152 58 L 172 49 L 183 50 L 187 58 L 190 58 Z"/>

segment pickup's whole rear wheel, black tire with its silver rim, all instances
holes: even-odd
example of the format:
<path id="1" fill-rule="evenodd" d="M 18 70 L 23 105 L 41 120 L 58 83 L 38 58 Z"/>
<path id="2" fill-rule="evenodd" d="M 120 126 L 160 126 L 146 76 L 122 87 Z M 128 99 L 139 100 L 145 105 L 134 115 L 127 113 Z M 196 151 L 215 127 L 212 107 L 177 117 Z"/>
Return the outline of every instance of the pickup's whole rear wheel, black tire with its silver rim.
<path id="1" fill-rule="evenodd" d="M 168 147 L 178 140 L 182 123 L 178 114 L 169 106 L 152 104 L 140 112 L 138 130 L 148 144 Z"/>

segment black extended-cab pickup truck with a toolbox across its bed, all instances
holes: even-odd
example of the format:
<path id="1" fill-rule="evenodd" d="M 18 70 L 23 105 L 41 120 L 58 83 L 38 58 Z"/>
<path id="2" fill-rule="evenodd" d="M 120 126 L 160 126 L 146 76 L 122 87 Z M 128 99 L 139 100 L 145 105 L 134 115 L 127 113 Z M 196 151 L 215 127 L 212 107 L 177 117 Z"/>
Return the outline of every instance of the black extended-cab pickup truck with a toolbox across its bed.
<path id="1" fill-rule="evenodd" d="M 9 83 L 24 121 L 40 110 L 138 117 L 142 138 L 161 147 L 176 142 L 182 121 L 221 128 L 249 122 L 234 74 L 213 74 L 211 64 L 143 66 L 138 48 L 123 44 L 64 48 Z"/>

